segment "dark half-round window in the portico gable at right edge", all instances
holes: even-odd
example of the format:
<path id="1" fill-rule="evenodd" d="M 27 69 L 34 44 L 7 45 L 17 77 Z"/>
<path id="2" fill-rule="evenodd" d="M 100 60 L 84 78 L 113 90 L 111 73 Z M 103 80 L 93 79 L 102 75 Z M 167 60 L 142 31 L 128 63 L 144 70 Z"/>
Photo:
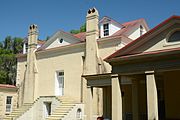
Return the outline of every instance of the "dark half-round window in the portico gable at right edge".
<path id="1" fill-rule="evenodd" d="M 180 30 L 173 32 L 167 42 L 180 42 Z"/>

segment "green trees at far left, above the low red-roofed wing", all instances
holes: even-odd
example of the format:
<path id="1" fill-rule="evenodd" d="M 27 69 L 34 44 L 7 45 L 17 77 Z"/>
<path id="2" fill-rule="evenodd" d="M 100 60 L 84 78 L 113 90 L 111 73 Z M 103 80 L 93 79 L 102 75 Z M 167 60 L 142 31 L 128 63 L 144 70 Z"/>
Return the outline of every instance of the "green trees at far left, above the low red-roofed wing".
<path id="1" fill-rule="evenodd" d="M 23 48 L 22 38 L 7 36 L 0 42 L 0 84 L 15 84 L 16 54 Z"/>

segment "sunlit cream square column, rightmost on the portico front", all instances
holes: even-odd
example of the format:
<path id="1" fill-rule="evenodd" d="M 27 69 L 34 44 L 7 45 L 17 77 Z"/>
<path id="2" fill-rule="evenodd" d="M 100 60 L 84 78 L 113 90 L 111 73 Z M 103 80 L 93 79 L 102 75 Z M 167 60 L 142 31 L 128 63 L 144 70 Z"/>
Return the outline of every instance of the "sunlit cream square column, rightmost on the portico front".
<path id="1" fill-rule="evenodd" d="M 148 120 L 158 120 L 158 96 L 154 71 L 147 71 L 145 73 L 147 85 Z"/>

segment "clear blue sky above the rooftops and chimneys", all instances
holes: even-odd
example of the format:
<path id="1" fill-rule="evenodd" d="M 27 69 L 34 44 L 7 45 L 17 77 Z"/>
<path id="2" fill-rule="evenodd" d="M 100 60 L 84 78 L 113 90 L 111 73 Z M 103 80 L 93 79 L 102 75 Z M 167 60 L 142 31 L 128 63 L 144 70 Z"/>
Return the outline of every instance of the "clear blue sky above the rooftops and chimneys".
<path id="1" fill-rule="evenodd" d="M 7 35 L 26 37 L 28 26 L 39 26 L 39 38 L 58 30 L 78 29 L 86 12 L 96 7 L 100 18 L 123 23 L 144 18 L 153 28 L 172 15 L 180 15 L 180 0 L 0 0 L 0 41 Z"/>

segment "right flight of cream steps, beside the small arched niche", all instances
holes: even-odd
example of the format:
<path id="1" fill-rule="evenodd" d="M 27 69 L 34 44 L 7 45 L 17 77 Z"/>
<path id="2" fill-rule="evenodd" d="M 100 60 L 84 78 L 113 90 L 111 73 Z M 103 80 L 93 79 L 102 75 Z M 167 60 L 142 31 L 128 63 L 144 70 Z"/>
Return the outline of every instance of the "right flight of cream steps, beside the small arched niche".
<path id="1" fill-rule="evenodd" d="M 58 106 L 46 120 L 62 120 L 76 106 L 76 102 L 70 98 L 58 97 L 57 99 L 61 102 L 60 106 Z"/>

